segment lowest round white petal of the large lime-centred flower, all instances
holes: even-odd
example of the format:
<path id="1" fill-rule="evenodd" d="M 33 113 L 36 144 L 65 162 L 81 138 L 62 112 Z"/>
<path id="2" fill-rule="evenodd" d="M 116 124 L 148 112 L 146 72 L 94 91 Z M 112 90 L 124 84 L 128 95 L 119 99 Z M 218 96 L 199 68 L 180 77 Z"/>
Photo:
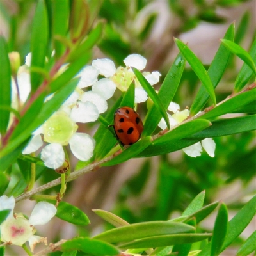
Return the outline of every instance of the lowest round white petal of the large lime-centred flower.
<path id="1" fill-rule="evenodd" d="M 51 143 L 43 148 L 41 159 L 44 161 L 45 166 L 57 169 L 65 161 L 64 150 L 60 144 Z"/>

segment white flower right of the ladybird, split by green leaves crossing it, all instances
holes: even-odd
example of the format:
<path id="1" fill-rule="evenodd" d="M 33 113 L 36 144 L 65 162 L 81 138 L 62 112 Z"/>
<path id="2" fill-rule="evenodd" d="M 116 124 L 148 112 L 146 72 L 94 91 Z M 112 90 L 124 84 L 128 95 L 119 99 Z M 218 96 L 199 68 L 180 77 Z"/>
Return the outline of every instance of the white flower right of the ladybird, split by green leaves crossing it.
<path id="1" fill-rule="evenodd" d="M 168 106 L 168 110 L 173 112 L 173 115 L 167 113 L 171 127 L 180 124 L 189 116 L 189 110 L 184 109 L 183 111 L 180 111 L 179 104 L 175 102 L 170 103 L 170 105 Z M 163 130 L 166 129 L 167 125 L 163 118 L 161 118 L 158 126 Z M 188 156 L 197 157 L 201 156 L 202 147 L 207 152 L 207 154 L 209 154 L 209 156 L 214 157 L 216 144 L 214 140 L 212 140 L 212 138 L 205 138 L 204 140 L 197 142 L 189 147 L 183 148 L 182 150 Z"/>

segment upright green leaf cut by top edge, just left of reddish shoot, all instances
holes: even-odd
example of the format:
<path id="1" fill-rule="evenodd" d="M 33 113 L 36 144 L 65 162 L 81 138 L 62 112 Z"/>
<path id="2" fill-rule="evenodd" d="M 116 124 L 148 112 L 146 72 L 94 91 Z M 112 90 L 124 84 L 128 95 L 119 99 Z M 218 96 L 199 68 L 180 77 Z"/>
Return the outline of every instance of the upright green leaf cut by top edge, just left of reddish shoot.
<path id="1" fill-rule="evenodd" d="M 65 36 L 68 31 L 69 1 L 52 1 L 52 35 Z M 56 59 L 65 51 L 64 45 L 54 38 L 54 57 Z"/>

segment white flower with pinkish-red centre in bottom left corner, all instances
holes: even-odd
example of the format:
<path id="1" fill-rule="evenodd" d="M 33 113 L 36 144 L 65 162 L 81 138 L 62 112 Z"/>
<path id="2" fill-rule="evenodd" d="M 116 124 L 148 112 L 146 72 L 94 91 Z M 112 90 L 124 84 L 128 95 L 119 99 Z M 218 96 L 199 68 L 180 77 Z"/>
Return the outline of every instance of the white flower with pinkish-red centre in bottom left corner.
<path id="1" fill-rule="evenodd" d="M 13 209 L 15 207 L 15 199 L 13 196 L 8 198 L 3 195 L 0 197 L 0 210 L 10 209 L 6 220 L 1 223 L 1 241 L 6 244 L 15 244 L 22 246 L 22 244 L 29 241 L 29 246 L 33 252 L 36 243 L 44 242 L 45 237 L 34 236 L 36 229 L 35 225 L 45 225 L 56 214 L 56 207 L 47 202 L 38 202 L 29 218 L 27 220 L 23 214 L 15 214 L 13 216 Z"/>

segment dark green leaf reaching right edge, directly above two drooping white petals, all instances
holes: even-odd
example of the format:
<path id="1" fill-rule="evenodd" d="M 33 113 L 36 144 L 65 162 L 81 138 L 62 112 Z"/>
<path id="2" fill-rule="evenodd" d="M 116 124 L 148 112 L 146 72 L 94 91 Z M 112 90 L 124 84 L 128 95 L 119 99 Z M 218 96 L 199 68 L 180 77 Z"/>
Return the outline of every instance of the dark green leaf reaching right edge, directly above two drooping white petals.
<path id="1" fill-rule="evenodd" d="M 218 119 L 193 138 L 212 138 L 256 130 L 256 115 Z"/>

